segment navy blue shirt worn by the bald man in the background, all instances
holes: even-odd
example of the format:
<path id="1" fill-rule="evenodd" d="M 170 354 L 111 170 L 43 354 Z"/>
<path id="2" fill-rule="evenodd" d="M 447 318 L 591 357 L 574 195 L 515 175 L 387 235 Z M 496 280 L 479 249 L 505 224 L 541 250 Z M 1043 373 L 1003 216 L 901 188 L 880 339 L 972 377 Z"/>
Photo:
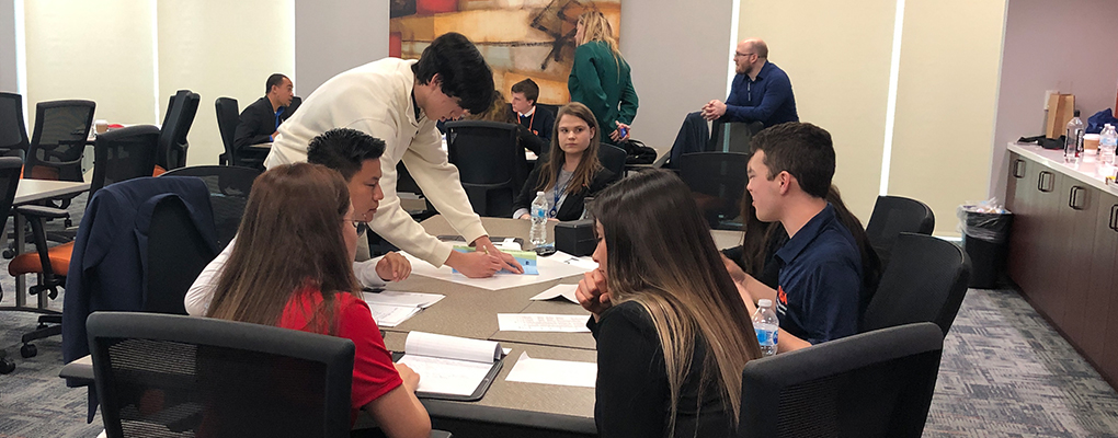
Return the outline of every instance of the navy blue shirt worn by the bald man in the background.
<path id="1" fill-rule="evenodd" d="M 726 122 L 761 122 L 765 127 L 785 122 L 799 122 L 792 80 L 776 64 L 765 61 L 757 79 L 737 75 L 726 99 Z"/>

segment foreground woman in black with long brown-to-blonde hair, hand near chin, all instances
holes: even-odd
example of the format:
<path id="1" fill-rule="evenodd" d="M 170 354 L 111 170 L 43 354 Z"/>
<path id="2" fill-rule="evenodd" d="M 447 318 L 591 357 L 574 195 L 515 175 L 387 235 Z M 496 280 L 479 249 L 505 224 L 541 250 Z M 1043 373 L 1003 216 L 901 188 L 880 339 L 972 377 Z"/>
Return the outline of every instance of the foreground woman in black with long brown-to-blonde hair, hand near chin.
<path id="1" fill-rule="evenodd" d="M 576 295 L 598 342 L 603 437 L 735 437 L 741 370 L 761 355 L 749 313 L 686 184 L 641 172 L 591 206 L 598 268 Z"/>

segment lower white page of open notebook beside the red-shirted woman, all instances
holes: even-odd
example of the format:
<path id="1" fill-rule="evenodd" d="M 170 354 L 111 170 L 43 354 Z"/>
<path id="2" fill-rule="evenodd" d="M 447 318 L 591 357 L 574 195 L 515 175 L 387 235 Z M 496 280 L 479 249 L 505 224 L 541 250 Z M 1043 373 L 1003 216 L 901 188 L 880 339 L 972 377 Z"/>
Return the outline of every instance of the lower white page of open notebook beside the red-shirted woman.
<path id="1" fill-rule="evenodd" d="M 493 362 L 456 361 L 413 354 L 405 354 L 398 362 L 410 366 L 419 374 L 417 391 L 455 396 L 474 393 L 477 385 L 485 380 L 485 374 L 493 368 Z"/>

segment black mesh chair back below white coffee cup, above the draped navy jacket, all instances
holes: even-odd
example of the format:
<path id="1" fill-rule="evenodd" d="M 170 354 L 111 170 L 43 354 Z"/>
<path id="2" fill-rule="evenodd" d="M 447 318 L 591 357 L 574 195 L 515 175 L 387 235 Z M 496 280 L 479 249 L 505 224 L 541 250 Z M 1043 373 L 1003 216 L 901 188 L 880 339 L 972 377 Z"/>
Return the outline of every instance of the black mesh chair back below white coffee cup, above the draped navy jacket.
<path id="1" fill-rule="evenodd" d="M 158 147 L 159 128 L 152 125 L 127 126 L 97 135 L 89 197 L 115 182 L 151 177 Z"/>

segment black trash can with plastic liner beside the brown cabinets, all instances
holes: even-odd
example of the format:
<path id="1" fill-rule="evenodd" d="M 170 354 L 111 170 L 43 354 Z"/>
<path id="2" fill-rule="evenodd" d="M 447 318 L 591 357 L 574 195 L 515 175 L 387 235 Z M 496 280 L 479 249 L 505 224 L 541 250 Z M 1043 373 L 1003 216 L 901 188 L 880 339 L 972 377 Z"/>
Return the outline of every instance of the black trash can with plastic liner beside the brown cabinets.
<path id="1" fill-rule="evenodd" d="M 968 211 L 966 206 L 960 206 L 959 223 L 963 249 L 970 257 L 969 287 L 997 288 L 1006 272 L 1013 213 Z"/>

